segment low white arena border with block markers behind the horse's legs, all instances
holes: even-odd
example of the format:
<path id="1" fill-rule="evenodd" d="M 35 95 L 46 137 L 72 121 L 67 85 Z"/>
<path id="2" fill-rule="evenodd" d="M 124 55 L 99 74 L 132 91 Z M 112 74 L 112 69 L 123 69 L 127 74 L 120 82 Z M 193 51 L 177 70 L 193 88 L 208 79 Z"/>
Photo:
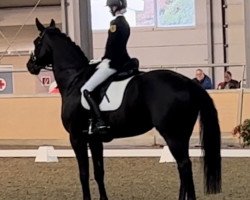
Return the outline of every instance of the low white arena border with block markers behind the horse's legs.
<path id="1" fill-rule="evenodd" d="M 88 151 L 91 157 L 90 151 Z M 201 149 L 190 149 L 190 157 L 201 157 Z M 250 157 L 250 149 L 222 149 L 222 157 Z M 38 149 L 22 150 L 0 150 L 2 158 L 32 158 L 35 162 L 58 162 L 58 157 L 72 158 L 75 157 L 71 149 L 54 149 L 53 146 L 40 146 Z M 155 157 L 159 158 L 160 163 L 175 162 L 167 146 L 159 149 L 104 149 L 104 157 Z"/>

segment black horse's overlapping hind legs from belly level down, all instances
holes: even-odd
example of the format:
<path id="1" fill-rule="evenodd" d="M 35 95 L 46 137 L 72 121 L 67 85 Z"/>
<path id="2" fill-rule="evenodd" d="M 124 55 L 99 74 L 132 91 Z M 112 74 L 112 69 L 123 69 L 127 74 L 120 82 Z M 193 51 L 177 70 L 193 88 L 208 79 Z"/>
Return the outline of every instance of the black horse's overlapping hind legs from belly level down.
<path id="1" fill-rule="evenodd" d="M 165 138 L 165 140 L 178 165 L 180 176 L 179 200 L 195 200 L 192 163 L 188 153 L 189 139 L 184 138 L 185 135 L 183 135 L 183 138 L 177 136 L 174 139 Z"/>

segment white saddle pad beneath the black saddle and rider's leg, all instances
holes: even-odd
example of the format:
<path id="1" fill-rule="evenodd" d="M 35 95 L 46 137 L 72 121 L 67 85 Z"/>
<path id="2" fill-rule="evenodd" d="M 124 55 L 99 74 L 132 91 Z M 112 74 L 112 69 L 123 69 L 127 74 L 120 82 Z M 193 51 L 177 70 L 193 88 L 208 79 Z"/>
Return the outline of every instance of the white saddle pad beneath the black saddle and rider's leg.
<path id="1" fill-rule="evenodd" d="M 133 76 L 122 81 L 112 82 L 110 84 L 110 86 L 108 87 L 106 91 L 106 95 L 103 97 L 99 105 L 99 108 L 101 111 L 112 111 L 120 107 L 126 86 L 132 78 Z M 83 95 L 82 95 L 81 102 L 82 102 L 82 106 L 85 109 L 87 110 L 90 109 L 89 104 L 87 103 Z"/>

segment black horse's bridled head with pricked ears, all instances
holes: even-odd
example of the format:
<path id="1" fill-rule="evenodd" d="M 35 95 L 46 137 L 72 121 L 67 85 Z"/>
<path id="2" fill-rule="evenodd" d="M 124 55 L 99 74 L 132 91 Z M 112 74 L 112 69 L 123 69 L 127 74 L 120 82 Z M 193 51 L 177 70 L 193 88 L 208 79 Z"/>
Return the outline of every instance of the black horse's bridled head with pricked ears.
<path id="1" fill-rule="evenodd" d="M 44 27 L 40 21 L 36 18 L 36 26 L 39 30 L 39 36 L 34 40 L 34 53 L 30 55 L 30 59 L 27 63 L 27 68 L 31 74 L 39 74 L 41 69 L 45 69 L 48 66 L 53 65 L 52 52 L 49 46 L 49 39 L 47 32 L 52 29 L 56 29 L 55 21 L 52 19 L 48 27 Z"/>

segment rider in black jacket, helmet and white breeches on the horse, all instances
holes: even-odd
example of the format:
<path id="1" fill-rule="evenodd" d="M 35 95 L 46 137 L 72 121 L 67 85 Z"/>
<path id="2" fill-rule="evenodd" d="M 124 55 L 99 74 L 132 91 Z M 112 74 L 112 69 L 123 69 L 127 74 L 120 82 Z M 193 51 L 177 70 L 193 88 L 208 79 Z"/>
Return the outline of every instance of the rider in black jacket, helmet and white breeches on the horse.
<path id="1" fill-rule="evenodd" d="M 121 70 L 123 65 L 131 59 L 126 48 L 130 36 L 130 27 L 123 16 L 126 12 L 127 1 L 107 0 L 107 6 L 115 19 L 110 22 L 105 54 L 101 63 L 97 66 L 96 72 L 81 88 L 82 98 L 85 97 L 96 118 L 94 127 L 97 131 L 94 130 L 94 132 L 101 134 L 106 134 L 109 127 L 102 119 L 99 106 L 91 97 L 90 92 L 108 77 Z"/>

